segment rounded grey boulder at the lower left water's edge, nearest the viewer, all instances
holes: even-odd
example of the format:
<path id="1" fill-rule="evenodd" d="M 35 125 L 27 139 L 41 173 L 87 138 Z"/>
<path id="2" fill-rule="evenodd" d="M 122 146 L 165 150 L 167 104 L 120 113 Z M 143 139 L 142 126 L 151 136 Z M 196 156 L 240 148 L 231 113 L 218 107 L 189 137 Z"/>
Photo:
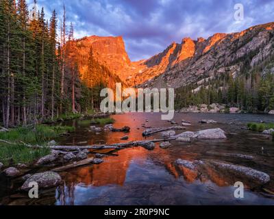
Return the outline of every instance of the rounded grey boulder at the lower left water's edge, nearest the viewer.
<path id="1" fill-rule="evenodd" d="M 52 171 L 36 173 L 25 181 L 21 189 L 28 191 L 30 189 L 29 183 L 31 182 L 36 182 L 38 183 L 38 188 L 45 189 L 60 185 L 60 183 L 62 183 L 62 178 L 58 173 Z"/>

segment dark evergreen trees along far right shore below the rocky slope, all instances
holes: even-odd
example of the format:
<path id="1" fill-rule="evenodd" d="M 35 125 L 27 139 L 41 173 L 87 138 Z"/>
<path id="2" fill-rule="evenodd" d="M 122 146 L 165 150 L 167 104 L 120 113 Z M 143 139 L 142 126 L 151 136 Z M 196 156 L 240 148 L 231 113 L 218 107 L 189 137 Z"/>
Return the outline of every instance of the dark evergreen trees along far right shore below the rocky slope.
<path id="1" fill-rule="evenodd" d="M 190 84 L 177 88 L 175 107 L 223 103 L 228 107 L 239 107 L 246 112 L 269 112 L 274 109 L 274 55 L 269 55 L 253 68 L 251 59 L 243 60 L 240 73 L 227 72 L 199 87 Z"/>

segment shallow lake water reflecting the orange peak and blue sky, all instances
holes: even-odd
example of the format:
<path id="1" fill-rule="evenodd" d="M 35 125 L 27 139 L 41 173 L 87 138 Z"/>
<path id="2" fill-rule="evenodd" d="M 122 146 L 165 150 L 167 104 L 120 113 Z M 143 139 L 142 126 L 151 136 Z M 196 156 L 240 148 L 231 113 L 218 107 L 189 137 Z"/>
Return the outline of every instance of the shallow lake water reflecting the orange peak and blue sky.
<path id="1" fill-rule="evenodd" d="M 142 124 L 151 127 L 169 127 L 170 123 L 161 120 L 161 114 L 121 114 L 112 116 L 114 127 L 131 127 L 129 141 L 142 140 Z M 274 122 L 274 116 L 260 114 L 175 114 L 175 121 L 192 123 L 188 131 L 199 131 L 220 127 L 227 133 L 227 140 L 199 140 L 191 143 L 171 142 L 169 149 L 153 151 L 142 147 L 116 151 L 99 165 L 75 168 L 60 175 L 64 180 L 56 190 L 42 194 L 38 200 L 29 201 L 16 194 L 16 182 L 2 198 L 2 203 L 27 205 L 274 205 L 274 142 L 270 137 L 242 129 L 249 122 Z M 213 119 L 217 124 L 200 124 L 201 119 Z M 149 120 L 146 123 L 146 120 Z M 103 131 L 99 135 L 88 131 L 89 121 L 74 120 L 64 123 L 74 125 L 75 133 L 58 140 L 62 145 L 112 144 L 121 142 L 125 133 Z M 177 131 L 180 133 L 182 131 Z M 160 138 L 160 134 L 149 139 Z M 262 147 L 264 150 L 262 151 Z M 228 157 L 206 155 L 207 151 L 242 153 L 253 155 L 255 159 L 245 161 Z M 97 151 L 107 153 L 108 151 Z M 90 156 L 93 156 L 91 154 Z M 191 172 L 184 172 L 175 166 L 176 159 L 217 159 L 232 164 L 240 164 L 266 172 L 271 177 L 267 185 L 245 188 L 245 198 L 234 198 L 233 176 L 212 173 L 201 179 Z M 9 182 L 10 183 L 10 182 Z M 8 190 L 8 188 L 7 188 Z M 0 192 L 1 196 L 1 192 Z M 0 197 L 1 200 L 1 197 Z"/>

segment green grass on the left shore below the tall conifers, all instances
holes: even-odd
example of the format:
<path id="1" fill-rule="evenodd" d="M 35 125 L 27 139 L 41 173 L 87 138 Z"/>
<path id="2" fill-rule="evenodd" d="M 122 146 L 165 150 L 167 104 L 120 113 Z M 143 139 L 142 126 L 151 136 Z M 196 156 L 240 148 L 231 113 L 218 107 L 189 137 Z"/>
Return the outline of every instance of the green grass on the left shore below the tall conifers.
<path id="1" fill-rule="evenodd" d="M 75 131 L 75 127 L 37 125 L 36 127 L 18 127 L 7 132 L 0 132 L 0 162 L 5 166 L 13 164 L 30 164 L 36 159 L 48 155 L 50 149 L 47 142 L 58 136 Z M 25 144 L 43 146 L 31 149 Z"/>

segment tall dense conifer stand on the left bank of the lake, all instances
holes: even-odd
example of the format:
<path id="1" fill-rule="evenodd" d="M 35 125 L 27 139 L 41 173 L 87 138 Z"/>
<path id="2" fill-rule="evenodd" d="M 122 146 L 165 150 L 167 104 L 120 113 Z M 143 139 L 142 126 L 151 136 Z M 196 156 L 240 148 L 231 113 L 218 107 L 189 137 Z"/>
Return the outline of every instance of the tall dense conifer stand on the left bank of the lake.
<path id="1" fill-rule="evenodd" d="M 92 90 L 79 80 L 73 57 L 73 25 L 66 29 L 25 0 L 0 0 L 0 123 L 4 127 L 42 123 L 87 111 Z M 60 24 L 60 25 L 59 25 Z M 59 25 L 59 28 L 58 28 Z"/>

